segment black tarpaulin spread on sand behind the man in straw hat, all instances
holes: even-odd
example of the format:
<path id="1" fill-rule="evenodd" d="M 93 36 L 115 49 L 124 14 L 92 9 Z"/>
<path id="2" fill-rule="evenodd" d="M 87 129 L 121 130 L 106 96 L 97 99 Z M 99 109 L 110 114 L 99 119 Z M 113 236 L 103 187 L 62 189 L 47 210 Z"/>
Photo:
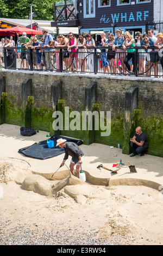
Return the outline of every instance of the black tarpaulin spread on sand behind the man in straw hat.
<path id="1" fill-rule="evenodd" d="M 61 148 L 59 148 L 59 146 L 56 147 L 57 139 L 60 139 L 60 138 L 66 139 L 66 141 L 68 141 L 68 142 L 74 142 L 78 146 L 83 144 L 82 140 L 71 139 L 71 138 L 67 138 L 67 137 L 63 137 L 63 136 L 59 136 L 59 135 L 53 135 L 51 138 L 48 138 L 48 139 L 51 139 L 51 141 L 54 141 L 53 148 L 48 148 L 47 139 L 46 139 L 46 141 L 34 143 L 28 147 L 19 149 L 18 153 L 21 153 L 25 156 L 32 157 L 35 159 L 41 159 L 41 160 L 45 160 L 45 159 L 48 159 L 51 157 L 61 155 L 65 152 L 65 149 L 61 149 Z"/>

